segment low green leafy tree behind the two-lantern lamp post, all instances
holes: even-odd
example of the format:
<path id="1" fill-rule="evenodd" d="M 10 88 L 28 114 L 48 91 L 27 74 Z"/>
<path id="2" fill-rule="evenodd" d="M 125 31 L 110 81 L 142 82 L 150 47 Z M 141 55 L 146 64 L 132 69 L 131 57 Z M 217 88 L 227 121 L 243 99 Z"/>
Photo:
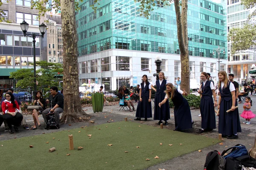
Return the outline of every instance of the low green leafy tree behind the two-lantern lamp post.
<path id="1" fill-rule="evenodd" d="M 41 66 L 36 71 L 36 80 L 38 83 L 38 89 L 48 91 L 50 86 L 58 86 L 58 83 L 62 81 L 59 74 L 62 74 L 63 68 L 60 63 L 52 63 L 47 61 L 36 62 L 37 66 Z M 11 73 L 10 78 L 18 79 L 17 87 L 27 88 L 28 86 L 34 86 L 34 73 L 33 68 L 23 68 Z M 44 88 L 46 86 L 46 88 Z"/>

